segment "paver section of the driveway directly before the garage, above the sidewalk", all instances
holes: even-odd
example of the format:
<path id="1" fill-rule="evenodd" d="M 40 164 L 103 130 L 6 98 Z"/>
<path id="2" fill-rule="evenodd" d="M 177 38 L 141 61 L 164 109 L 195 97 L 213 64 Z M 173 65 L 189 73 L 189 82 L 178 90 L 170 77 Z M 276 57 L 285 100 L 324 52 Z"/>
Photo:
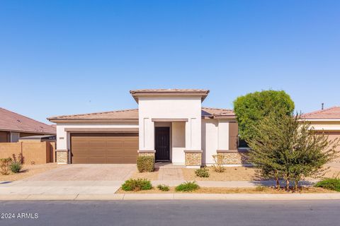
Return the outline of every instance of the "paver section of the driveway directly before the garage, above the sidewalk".
<path id="1" fill-rule="evenodd" d="M 69 164 L 24 181 L 124 181 L 136 170 L 135 164 Z"/>

